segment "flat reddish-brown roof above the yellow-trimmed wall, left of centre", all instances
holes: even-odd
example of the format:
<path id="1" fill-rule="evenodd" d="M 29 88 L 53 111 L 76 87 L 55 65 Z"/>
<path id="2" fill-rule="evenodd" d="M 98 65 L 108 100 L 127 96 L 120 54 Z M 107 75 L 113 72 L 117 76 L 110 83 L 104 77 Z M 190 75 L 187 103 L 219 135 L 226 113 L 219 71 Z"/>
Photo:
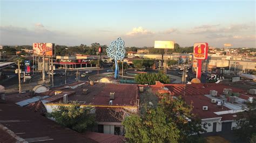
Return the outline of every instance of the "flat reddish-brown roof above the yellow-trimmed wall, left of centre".
<path id="1" fill-rule="evenodd" d="M 86 95 L 83 94 L 83 89 L 88 89 Z M 115 92 L 112 105 L 136 106 L 138 98 L 138 87 L 133 84 L 86 83 L 76 89 L 65 91 L 76 92 L 75 95 L 68 97 L 69 101 L 81 101 L 92 105 L 109 105 L 110 92 Z"/>

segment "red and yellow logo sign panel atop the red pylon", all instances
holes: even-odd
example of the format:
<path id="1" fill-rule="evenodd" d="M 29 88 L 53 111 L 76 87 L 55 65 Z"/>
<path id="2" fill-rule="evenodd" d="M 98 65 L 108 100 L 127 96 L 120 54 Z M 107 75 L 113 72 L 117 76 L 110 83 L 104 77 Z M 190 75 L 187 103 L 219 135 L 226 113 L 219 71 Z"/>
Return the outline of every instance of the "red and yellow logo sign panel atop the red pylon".
<path id="1" fill-rule="evenodd" d="M 194 59 L 205 60 L 207 59 L 208 54 L 208 43 L 207 42 L 198 42 L 194 44 Z"/>

